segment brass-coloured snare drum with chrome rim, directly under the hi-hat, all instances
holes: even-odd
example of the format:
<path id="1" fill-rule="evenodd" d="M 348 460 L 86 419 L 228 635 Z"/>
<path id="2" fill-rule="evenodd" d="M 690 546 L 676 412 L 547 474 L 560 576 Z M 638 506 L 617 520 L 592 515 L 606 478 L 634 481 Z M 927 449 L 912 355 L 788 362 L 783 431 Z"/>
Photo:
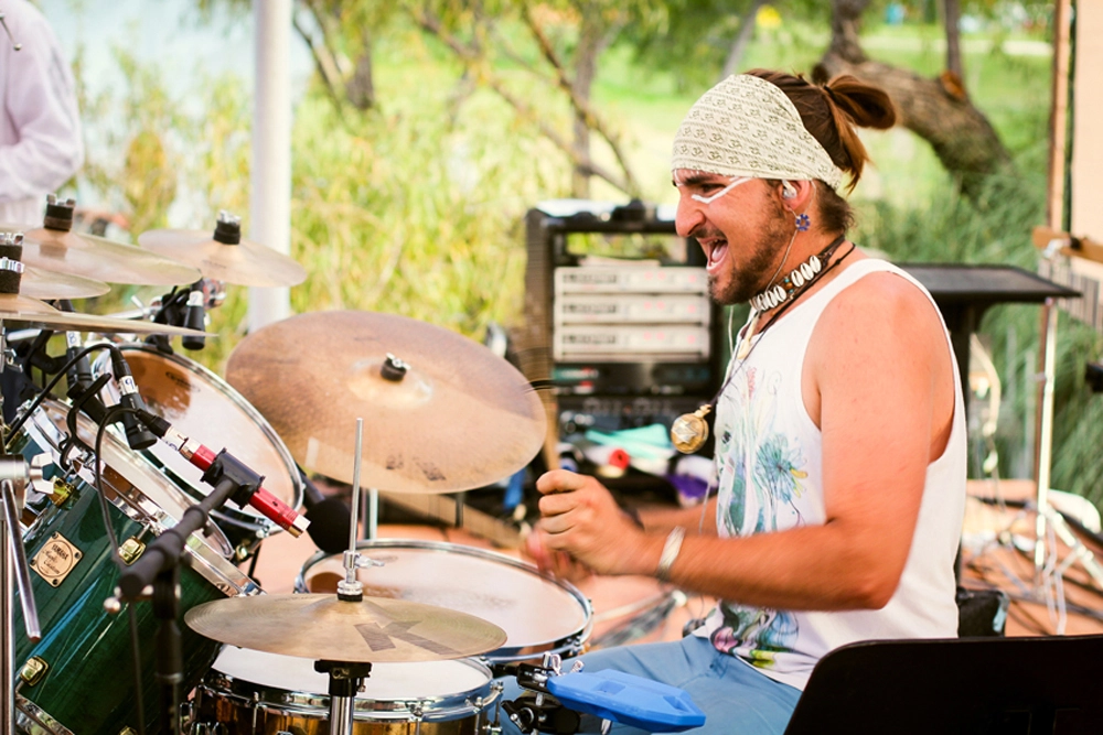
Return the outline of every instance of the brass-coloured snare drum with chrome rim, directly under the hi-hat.
<path id="1" fill-rule="evenodd" d="M 329 677 L 310 659 L 227 646 L 195 690 L 192 733 L 271 735 L 329 732 Z M 470 659 L 373 663 L 356 694 L 356 735 L 481 735 L 497 696 L 490 670 Z"/>

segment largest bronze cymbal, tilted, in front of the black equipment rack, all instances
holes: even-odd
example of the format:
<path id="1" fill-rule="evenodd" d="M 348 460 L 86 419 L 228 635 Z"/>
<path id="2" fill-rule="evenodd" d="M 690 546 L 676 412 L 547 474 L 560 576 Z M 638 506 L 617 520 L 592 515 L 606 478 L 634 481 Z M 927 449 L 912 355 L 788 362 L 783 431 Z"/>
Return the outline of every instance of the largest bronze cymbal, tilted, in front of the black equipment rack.
<path id="1" fill-rule="evenodd" d="M 382 370 L 387 355 L 408 368 Z M 524 467 L 544 442 L 536 392 L 512 365 L 449 329 L 375 312 L 314 312 L 270 324 L 229 356 L 226 380 L 307 469 L 393 493 L 482 487 Z"/>

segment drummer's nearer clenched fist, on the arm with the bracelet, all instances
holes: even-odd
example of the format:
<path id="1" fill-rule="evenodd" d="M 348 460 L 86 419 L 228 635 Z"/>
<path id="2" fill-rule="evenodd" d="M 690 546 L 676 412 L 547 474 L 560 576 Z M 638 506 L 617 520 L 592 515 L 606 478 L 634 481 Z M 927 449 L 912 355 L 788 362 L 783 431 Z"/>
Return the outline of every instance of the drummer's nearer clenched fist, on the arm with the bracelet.
<path id="1" fill-rule="evenodd" d="M 544 497 L 535 533 L 548 551 L 566 552 L 598 574 L 651 573 L 649 537 L 597 479 L 553 469 L 536 480 L 536 489 Z"/>

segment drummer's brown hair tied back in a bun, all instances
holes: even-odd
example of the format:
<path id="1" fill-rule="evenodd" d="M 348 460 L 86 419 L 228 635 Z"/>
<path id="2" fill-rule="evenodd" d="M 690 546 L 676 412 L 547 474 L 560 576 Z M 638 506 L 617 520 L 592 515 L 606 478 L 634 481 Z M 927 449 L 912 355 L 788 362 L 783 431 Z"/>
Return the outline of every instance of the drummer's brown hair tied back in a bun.
<path id="1" fill-rule="evenodd" d="M 896 125 L 896 108 L 885 90 L 849 74 L 840 74 L 822 84 L 770 69 L 751 69 L 747 74 L 765 79 L 785 93 L 800 112 L 805 129 L 820 141 L 835 165 L 849 174 L 847 194 L 854 191 L 869 161 L 869 153 L 855 127 L 887 130 Z M 824 229 L 845 233 L 854 224 L 850 205 L 829 186 L 820 190 L 820 217 Z"/>

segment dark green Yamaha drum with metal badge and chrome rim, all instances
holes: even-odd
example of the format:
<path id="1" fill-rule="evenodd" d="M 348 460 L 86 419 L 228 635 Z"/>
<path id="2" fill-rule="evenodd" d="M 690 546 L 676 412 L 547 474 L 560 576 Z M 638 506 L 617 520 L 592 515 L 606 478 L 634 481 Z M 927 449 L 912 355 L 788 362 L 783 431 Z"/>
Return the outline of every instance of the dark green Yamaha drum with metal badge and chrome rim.
<path id="1" fill-rule="evenodd" d="M 57 461 L 66 437 L 62 426 L 68 407 L 47 400 L 14 442 L 24 457 L 50 454 Z M 78 431 L 95 442 L 95 424 L 81 417 Z M 138 728 L 135 674 L 128 614 L 109 615 L 104 602 L 114 595 L 118 569 L 95 488 L 90 456 L 71 453 L 72 471 L 46 467 L 52 496 L 29 493 L 23 543 L 42 626 L 42 640 L 25 637 L 17 605 L 15 666 L 18 718 L 24 732 L 118 735 Z M 103 480 L 111 527 L 124 558 L 137 559 L 144 545 L 175 525 L 191 499 L 141 455 L 107 432 L 103 443 Z M 257 594 L 259 588 L 226 561 L 232 547 L 213 528 L 205 540 L 192 534 L 180 570 L 180 607 L 223 596 Z M 159 626 L 148 603 L 133 606 L 141 641 L 141 695 L 148 724 L 160 712 L 154 679 Z M 217 656 L 219 645 L 181 626 L 183 673 L 188 692 Z"/>

